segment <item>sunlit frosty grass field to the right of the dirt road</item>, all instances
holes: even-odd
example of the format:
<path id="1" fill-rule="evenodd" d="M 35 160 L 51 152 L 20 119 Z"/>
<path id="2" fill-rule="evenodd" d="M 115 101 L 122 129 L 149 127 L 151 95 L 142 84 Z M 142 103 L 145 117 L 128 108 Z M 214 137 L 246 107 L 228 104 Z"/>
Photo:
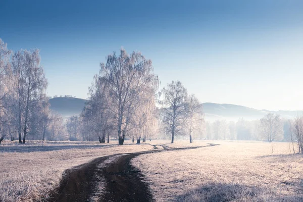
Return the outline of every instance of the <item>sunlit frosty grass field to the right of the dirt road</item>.
<path id="1" fill-rule="evenodd" d="M 220 145 L 141 155 L 132 164 L 156 201 L 303 201 L 303 156 L 288 143 L 213 143 Z"/>

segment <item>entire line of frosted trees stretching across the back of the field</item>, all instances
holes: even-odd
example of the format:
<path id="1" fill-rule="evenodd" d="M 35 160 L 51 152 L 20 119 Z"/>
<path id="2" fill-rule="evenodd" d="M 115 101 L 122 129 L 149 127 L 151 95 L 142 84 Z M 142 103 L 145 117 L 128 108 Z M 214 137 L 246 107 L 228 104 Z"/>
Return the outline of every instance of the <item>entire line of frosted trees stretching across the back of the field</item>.
<path id="1" fill-rule="evenodd" d="M 203 106 L 180 81 L 159 89 L 151 60 L 141 53 L 119 52 L 100 63 L 79 116 L 64 119 L 49 110 L 47 79 L 39 50 L 13 53 L 0 39 L 0 143 L 30 140 L 136 143 L 154 138 L 289 140 L 303 150 L 303 118 L 282 120 L 269 113 L 261 120 L 204 120 Z M 57 97 L 57 96 L 54 96 Z M 65 97 L 72 97 L 65 95 Z"/>

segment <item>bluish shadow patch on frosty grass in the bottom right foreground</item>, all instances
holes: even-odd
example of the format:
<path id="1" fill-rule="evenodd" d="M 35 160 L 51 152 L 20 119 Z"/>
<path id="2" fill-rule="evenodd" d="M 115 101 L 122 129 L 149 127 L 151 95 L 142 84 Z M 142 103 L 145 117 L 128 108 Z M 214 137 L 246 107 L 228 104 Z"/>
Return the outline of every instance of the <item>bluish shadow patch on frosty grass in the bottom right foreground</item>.
<path id="1" fill-rule="evenodd" d="M 213 201 L 303 201 L 303 196 L 277 196 L 266 188 L 240 184 L 212 183 L 176 196 L 175 201 L 213 202 Z"/>

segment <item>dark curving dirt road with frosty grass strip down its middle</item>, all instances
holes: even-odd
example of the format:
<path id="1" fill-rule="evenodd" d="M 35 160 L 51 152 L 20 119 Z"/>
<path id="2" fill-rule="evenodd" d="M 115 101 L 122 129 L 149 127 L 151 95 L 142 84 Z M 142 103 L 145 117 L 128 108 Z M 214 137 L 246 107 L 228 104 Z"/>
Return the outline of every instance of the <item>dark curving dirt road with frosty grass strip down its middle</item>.
<path id="1" fill-rule="evenodd" d="M 155 149 L 157 146 L 164 149 L 100 157 L 66 170 L 60 186 L 52 191 L 48 201 L 155 201 L 144 182 L 144 176 L 130 164 L 130 160 L 141 154 L 207 147 L 153 146 Z"/>

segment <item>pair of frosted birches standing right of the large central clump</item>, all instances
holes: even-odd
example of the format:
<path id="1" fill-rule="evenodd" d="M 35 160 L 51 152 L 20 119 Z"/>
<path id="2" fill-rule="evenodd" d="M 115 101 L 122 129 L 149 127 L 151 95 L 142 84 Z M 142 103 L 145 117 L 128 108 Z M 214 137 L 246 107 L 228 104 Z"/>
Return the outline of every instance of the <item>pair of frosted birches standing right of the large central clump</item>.
<path id="1" fill-rule="evenodd" d="M 192 142 L 192 134 L 203 126 L 204 119 L 202 107 L 198 99 L 187 94 L 186 88 L 180 81 L 172 81 L 161 91 L 163 99 L 160 100 L 161 109 L 159 117 L 165 133 L 171 135 L 174 143 L 175 135 L 189 135 Z"/>

